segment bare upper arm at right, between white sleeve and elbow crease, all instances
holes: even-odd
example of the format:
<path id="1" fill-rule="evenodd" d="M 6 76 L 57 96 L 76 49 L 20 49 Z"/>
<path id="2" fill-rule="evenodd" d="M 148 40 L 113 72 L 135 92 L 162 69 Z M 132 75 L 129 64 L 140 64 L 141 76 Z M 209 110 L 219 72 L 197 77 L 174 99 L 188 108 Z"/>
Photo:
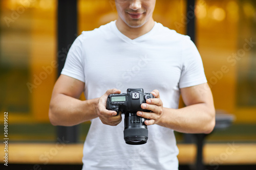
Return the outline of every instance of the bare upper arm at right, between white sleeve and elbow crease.
<path id="1" fill-rule="evenodd" d="M 212 93 L 207 83 L 181 88 L 181 96 L 186 106 L 206 103 L 214 107 Z"/>

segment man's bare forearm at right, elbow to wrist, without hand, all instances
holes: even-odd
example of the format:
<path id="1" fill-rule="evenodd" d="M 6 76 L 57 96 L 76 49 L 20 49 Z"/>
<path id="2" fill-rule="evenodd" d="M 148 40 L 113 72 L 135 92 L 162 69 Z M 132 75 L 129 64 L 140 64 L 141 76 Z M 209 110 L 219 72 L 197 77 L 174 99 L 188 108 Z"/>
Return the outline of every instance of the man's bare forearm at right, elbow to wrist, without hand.
<path id="1" fill-rule="evenodd" d="M 210 133 L 215 126 L 215 109 L 205 103 L 181 109 L 163 109 L 158 125 L 182 133 Z"/>

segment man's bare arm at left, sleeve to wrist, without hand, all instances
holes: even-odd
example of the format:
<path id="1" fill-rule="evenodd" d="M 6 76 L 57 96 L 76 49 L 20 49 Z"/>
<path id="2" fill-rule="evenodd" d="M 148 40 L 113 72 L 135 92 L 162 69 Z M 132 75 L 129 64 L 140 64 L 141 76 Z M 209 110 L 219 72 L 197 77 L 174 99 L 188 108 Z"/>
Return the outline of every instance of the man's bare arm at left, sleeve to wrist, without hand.
<path id="1" fill-rule="evenodd" d="M 49 108 L 52 125 L 74 126 L 98 117 L 98 99 L 78 99 L 83 89 L 83 82 L 60 75 L 54 85 Z"/>

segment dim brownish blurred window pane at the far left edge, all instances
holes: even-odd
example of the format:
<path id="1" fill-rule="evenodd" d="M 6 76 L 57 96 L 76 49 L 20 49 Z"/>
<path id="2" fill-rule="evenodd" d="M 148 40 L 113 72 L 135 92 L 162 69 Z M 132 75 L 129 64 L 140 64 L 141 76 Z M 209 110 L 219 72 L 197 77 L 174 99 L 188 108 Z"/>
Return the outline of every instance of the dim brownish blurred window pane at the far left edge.
<path id="1" fill-rule="evenodd" d="M 31 10 L 20 17 L 17 11 L 11 11 L 17 7 L 9 1 L 1 4 L 0 109 L 28 114 L 31 98 L 25 85 L 30 77 L 28 56 L 31 52 L 32 20 L 27 18 Z"/>

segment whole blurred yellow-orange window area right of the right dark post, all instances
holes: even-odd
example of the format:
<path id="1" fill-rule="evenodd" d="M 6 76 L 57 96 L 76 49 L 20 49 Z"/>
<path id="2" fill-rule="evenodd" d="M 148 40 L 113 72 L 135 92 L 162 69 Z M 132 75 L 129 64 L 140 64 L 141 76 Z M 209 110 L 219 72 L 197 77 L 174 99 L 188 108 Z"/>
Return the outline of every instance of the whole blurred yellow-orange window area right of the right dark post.
<path id="1" fill-rule="evenodd" d="M 197 46 L 216 109 L 256 123 L 256 2 L 197 1 Z"/>

